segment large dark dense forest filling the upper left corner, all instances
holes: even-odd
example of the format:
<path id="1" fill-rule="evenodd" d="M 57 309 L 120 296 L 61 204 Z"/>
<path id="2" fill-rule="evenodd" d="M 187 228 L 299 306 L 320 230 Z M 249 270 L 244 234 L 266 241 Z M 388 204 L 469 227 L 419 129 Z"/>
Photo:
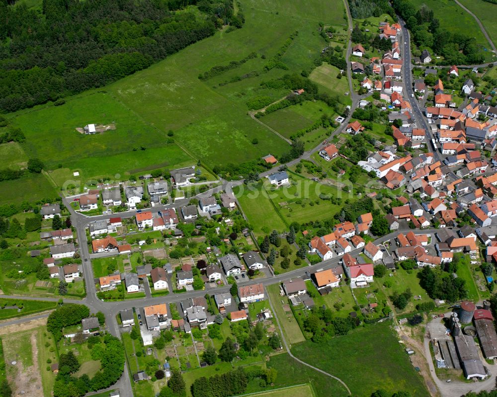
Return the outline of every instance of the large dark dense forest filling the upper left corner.
<path id="1" fill-rule="evenodd" d="M 0 111 L 121 79 L 189 44 L 242 26 L 231 0 L 0 0 Z"/>

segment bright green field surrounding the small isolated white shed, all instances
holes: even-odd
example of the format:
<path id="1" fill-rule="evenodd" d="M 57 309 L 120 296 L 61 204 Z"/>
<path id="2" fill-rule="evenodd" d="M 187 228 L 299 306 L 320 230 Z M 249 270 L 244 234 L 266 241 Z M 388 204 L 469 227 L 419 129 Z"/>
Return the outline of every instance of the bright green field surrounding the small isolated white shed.
<path id="1" fill-rule="evenodd" d="M 116 129 L 94 135 L 76 131 L 92 123 L 114 123 Z M 22 146 L 28 158 L 43 159 L 46 169 L 67 169 L 71 177 L 75 170 L 80 178 L 114 177 L 149 165 L 172 168 L 193 161 L 178 146 L 166 143 L 165 132 L 105 91 L 69 98 L 62 106 L 19 112 L 12 124 L 26 135 Z"/>

